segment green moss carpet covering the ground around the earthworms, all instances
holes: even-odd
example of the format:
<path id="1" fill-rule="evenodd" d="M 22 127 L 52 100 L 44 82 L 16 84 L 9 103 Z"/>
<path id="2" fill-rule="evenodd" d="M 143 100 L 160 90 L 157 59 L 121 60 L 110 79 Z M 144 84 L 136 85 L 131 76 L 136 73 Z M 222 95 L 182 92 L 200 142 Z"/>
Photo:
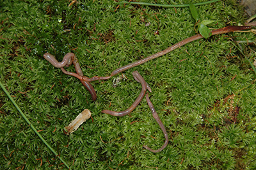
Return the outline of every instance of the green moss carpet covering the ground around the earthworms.
<path id="1" fill-rule="evenodd" d="M 253 33 L 197 40 L 108 81 L 92 82 L 98 97 L 93 102 L 79 80 L 54 68 L 43 54 L 50 52 L 61 61 L 74 52 L 84 75 L 107 76 L 195 35 L 195 20 L 188 7 L 118 6 L 105 0 L 68 6 L 70 2 L 1 1 L 0 81 L 71 169 L 256 168 L 256 75 L 240 52 L 254 61 Z M 233 0 L 196 10 L 200 19 L 214 21 L 212 28 L 245 20 Z M 72 66 L 67 70 L 74 72 Z M 138 97 L 141 85 L 132 77 L 134 70 L 152 88 L 150 100 L 168 131 L 170 143 L 160 153 L 142 147 L 157 149 L 164 142 L 145 98 L 129 116 L 100 112 L 125 110 Z M 0 107 L 0 169 L 67 169 L 2 89 Z M 69 136 L 63 134 L 84 109 L 92 112 L 92 120 Z"/>

